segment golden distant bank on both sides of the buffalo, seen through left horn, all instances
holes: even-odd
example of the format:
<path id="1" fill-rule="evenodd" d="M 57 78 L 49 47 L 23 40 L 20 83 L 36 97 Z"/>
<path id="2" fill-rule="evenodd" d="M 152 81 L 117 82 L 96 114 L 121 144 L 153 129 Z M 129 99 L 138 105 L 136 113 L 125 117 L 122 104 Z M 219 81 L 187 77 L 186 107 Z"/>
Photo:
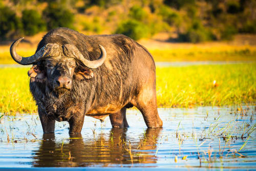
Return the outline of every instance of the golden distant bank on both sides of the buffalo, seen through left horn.
<path id="1" fill-rule="evenodd" d="M 256 61 L 256 46 L 229 45 L 225 42 L 208 42 L 205 44 L 173 44 L 141 41 L 152 53 L 155 61 Z M 0 63 L 12 64 L 10 46 L 0 46 Z M 30 56 L 35 53 L 36 43 L 20 44 L 17 53 Z"/>

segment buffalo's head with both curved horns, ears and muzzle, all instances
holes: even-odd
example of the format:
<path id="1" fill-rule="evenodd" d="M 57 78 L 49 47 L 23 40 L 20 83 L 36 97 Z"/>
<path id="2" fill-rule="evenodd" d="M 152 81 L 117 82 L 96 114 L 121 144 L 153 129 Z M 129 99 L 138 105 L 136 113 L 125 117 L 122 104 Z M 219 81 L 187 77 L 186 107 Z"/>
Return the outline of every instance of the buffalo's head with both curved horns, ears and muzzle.
<path id="1" fill-rule="evenodd" d="M 31 65 L 28 71 L 31 82 L 45 83 L 49 90 L 61 96 L 72 89 L 73 79 L 85 80 L 94 77 L 91 69 L 101 66 L 106 59 L 104 47 L 99 45 L 100 57 L 97 60 L 87 60 L 82 53 L 70 44 L 59 46 L 47 44 L 34 55 L 22 57 L 16 53 L 16 46 L 23 38 L 14 41 L 10 53 L 20 65 Z"/>

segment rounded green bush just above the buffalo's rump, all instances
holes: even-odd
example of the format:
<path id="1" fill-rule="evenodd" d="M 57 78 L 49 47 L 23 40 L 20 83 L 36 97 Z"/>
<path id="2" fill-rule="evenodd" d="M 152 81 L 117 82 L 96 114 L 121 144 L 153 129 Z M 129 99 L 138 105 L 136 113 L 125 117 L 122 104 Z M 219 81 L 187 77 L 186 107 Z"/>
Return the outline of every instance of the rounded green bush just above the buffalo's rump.
<path id="1" fill-rule="evenodd" d="M 149 37 L 150 29 L 148 29 L 147 26 L 138 22 L 137 20 L 129 19 L 129 20 L 126 20 L 125 22 L 122 22 L 118 26 L 115 33 L 124 34 L 126 36 L 131 37 L 134 40 L 138 40 L 143 37 Z"/>

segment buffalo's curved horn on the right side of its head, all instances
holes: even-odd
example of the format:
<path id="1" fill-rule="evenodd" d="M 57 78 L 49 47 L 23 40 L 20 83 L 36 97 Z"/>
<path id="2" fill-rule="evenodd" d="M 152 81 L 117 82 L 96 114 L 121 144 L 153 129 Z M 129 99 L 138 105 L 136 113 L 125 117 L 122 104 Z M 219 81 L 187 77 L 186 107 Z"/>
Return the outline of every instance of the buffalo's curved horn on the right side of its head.
<path id="1" fill-rule="evenodd" d="M 83 63 L 84 66 L 94 69 L 101 66 L 106 59 L 105 48 L 101 45 L 99 45 L 99 48 L 100 48 L 100 56 L 96 60 L 87 60 L 86 58 L 83 57 L 81 52 L 74 45 L 70 45 L 70 44 L 63 45 L 63 53 L 66 56 L 78 59 L 80 62 Z"/>

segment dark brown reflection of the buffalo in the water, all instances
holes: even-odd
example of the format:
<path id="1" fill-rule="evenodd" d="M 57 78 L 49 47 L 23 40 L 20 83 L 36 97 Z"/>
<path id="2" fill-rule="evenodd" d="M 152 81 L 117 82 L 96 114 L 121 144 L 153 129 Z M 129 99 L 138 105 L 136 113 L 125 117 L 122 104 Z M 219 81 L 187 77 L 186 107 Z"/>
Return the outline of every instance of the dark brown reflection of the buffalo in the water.
<path id="1" fill-rule="evenodd" d="M 136 163 L 156 163 L 157 139 L 162 129 L 147 129 L 135 141 L 126 139 L 127 129 L 113 128 L 105 140 L 99 135 L 84 140 L 81 134 L 70 134 L 69 143 L 56 142 L 54 134 L 44 134 L 42 143 L 33 154 L 34 167 L 86 167 L 86 166 L 122 166 Z M 62 147 L 62 148 L 61 148 Z M 151 150 L 151 151 L 147 151 Z"/>

